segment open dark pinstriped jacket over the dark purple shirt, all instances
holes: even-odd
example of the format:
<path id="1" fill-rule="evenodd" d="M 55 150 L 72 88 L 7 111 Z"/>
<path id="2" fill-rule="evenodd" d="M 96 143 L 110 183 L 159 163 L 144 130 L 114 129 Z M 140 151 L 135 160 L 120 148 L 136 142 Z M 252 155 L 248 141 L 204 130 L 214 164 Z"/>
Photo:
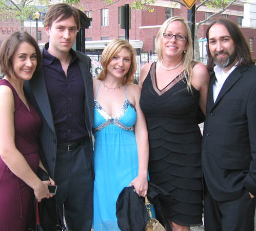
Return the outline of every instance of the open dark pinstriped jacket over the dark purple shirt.
<path id="1" fill-rule="evenodd" d="M 92 154 L 92 124 L 93 124 L 93 86 L 92 75 L 90 73 L 91 59 L 81 52 L 76 52 L 78 57 L 78 65 L 80 67 L 85 87 L 85 124 L 90 136 L 91 148 L 86 152 L 86 159 L 90 161 L 91 167 L 93 167 L 93 154 Z M 47 88 L 45 84 L 44 71 L 41 67 L 36 71 L 30 81 L 26 81 L 24 84 L 25 92 L 36 108 L 43 120 L 42 130 L 40 134 L 40 157 L 47 168 L 48 173 L 54 178 L 56 152 L 57 152 L 57 138 L 54 127 L 54 121 L 51 112 L 51 105 L 48 98 Z M 91 168 L 93 169 L 93 168 Z"/>

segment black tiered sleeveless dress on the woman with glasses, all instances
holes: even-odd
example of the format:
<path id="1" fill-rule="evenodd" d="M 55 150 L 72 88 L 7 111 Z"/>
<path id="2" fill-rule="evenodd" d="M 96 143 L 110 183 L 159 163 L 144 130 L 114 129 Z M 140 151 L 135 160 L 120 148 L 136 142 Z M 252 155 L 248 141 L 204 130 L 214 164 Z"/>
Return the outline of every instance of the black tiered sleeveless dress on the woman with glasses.
<path id="1" fill-rule="evenodd" d="M 162 197 L 167 217 L 180 225 L 201 225 L 203 193 L 202 135 L 197 120 L 199 91 L 191 86 L 191 93 L 187 90 L 186 80 L 179 76 L 165 90 L 160 90 L 155 68 L 156 63 L 153 63 L 143 83 L 140 99 L 149 135 L 150 181 L 174 198 L 174 203 L 170 204 Z"/>

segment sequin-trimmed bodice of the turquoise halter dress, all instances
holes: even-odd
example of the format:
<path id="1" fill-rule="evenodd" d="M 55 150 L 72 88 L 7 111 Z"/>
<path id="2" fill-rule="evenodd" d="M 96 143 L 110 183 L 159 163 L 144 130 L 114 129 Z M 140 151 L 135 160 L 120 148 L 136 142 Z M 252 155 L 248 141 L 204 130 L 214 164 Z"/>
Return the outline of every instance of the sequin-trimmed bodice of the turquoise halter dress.
<path id="1" fill-rule="evenodd" d="M 124 87 L 125 89 L 125 87 Z M 99 90 L 99 89 L 98 89 Z M 125 89 L 126 94 L 126 89 Z M 94 123 L 92 132 L 101 131 L 109 125 L 114 125 L 123 130 L 133 131 L 137 119 L 136 109 L 127 99 L 120 108 L 115 117 L 111 117 L 106 110 L 100 105 L 97 99 L 94 100 Z"/>

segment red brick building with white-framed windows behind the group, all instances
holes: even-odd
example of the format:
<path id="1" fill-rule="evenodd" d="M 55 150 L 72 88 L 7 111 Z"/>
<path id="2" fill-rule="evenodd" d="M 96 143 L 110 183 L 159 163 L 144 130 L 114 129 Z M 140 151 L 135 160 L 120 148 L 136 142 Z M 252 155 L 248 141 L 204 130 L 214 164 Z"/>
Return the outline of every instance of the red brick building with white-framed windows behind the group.
<path id="1" fill-rule="evenodd" d="M 121 29 L 120 26 L 120 6 L 132 4 L 132 2 L 133 0 L 120 0 L 110 6 L 107 6 L 103 0 L 82 0 L 80 2 L 86 15 L 92 18 L 91 27 L 86 30 L 87 51 L 102 50 L 109 42 L 108 40 L 125 37 L 125 30 Z M 171 16 L 188 17 L 186 7 L 178 3 L 170 2 L 169 0 L 157 0 L 152 8 L 154 8 L 153 12 L 131 9 L 131 29 L 129 31 L 129 38 L 134 48 L 144 51 L 154 51 L 155 37 L 163 22 Z M 204 20 L 217 11 L 219 10 L 202 6 L 195 13 L 195 20 L 196 22 Z M 250 44 L 253 57 L 256 58 L 255 14 L 256 4 L 238 1 L 222 14 L 216 15 L 211 20 L 226 17 L 236 22 Z M 199 38 L 205 38 L 205 32 L 209 22 L 200 26 L 198 32 Z M 204 49 L 202 49 L 202 51 L 204 51 Z M 205 52 L 203 52 L 203 54 L 201 52 L 201 55 L 204 56 Z"/>

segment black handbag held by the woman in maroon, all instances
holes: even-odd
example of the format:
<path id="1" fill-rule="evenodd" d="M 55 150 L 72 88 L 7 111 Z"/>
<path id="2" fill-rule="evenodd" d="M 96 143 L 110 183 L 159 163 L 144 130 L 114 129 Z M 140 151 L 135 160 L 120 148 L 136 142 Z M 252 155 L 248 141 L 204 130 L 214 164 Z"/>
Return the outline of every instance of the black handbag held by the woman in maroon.
<path id="1" fill-rule="evenodd" d="M 49 175 L 41 168 L 38 169 L 37 176 L 41 180 L 49 180 Z M 56 196 L 44 198 L 41 202 L 34 197 L 33 218 L 28 231 L 65 231 L 67 229 L 62 217 Z"/>

